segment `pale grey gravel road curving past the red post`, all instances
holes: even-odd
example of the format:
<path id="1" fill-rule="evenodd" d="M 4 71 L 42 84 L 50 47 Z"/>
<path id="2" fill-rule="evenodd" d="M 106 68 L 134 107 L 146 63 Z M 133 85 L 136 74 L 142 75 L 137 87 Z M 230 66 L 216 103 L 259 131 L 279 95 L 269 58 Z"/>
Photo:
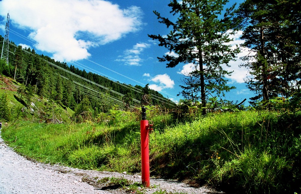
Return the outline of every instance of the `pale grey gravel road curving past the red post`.
<path id="1" fill-rule="evenodd" d="M 97 184 L 103 177 L 121 177 L 133 182 L 141 182 L 139 175 L 80 170 L 60 165 L 43 164 L 27 160 L 15 153 L 1 138 L 0 131 L 0 193 L 126 193 L 122 188 Z M 150 189 L 146 194 L 158 190 L 167 193 L 221 193 L 207 187 L 192 188 L 174 180 L 151 178 Z M 129 193 L 129 192 L 127 192 Z"/>

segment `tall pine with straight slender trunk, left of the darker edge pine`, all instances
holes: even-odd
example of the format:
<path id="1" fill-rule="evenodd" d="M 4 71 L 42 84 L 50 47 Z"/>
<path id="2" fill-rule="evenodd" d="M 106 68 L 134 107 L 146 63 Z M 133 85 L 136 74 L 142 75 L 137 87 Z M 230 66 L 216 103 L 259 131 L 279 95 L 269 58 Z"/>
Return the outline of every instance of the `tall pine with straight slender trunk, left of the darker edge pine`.
<path id="1" fill-rule="evenodd" d="M 208 95 L 222 95 L 234 87 L 226 85 L 225 75 L 230 75 L 222 65 L 228 65 L 239 52 L 232 49 L 229 42 L 230 34 L 235 33 L 236 23 L 232 21 L 234 5 L 224 10 L 228 0 L 173 0 L 169 3 L 171 13 L 178 16 L 176 22 L 162 17 L 154 11 L 159 22 L 172 27 L 163 37 L 149 35 L 153 40 L 159 40 L 159 46 L 164 46 L 176 55 L 158 57 L 160 62 L 167 62 L 167 67 L 175 67 L 180 63 L 193 63 L 195 71 L 192 76 L 199 78 L 200 99 L 203 107 L 202 114 L 206 114 L 206 100 Z M 222 15 L 222 12 L 225 12 Z"/>

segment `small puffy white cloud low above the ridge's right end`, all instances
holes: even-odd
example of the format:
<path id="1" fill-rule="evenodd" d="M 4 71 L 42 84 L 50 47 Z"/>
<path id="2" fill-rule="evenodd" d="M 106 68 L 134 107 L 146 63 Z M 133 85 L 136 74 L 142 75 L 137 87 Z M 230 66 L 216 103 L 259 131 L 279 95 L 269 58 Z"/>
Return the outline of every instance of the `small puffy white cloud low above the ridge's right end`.
<path id="1" fill-rule="evenodd" d="M 165 88 L 173 88 L 175 85 L 175 82 L 167 74 L 156 75 L 154 78 L 151 79 L 151 81 L 158 83 L 149 85 L 149 88 L 156 91 L 162 91 Z"/>

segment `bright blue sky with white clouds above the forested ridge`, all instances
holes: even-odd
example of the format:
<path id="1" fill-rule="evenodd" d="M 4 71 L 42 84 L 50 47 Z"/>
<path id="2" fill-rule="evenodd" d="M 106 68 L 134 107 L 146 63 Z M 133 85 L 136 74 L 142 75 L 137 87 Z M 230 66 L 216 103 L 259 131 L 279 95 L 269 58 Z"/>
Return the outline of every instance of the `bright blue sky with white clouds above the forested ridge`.
<path id="1" fill-rule="evenodd" d="M 170 29 L 160 24 L 153 10 L 172 17 L 169 0 L 2 0 L 0 32 L 4 36 L 6 16 L 10 14 L 9 39 L 37 53 L 67 62 L 114 81 L 131 85 L 149 83 L 163 96 L 179 101 L 183 73 L 190 64 L 166 68 L 157 57 L 168 50 L 159 47 L 147 34 L 166 35 Z M 237 1 L 236 1 L 237 2 Z M 240 1 L 238 1 L 240 2 Z M 230 2 L 231 4 L 231 2 Z M 240 44 L 241 32 L 233 44 Z M 249 50 L 242 48 L 238 57 Z M 244 78 L 247 69 L 239 68 L 240 60 L 231 62 L 234 73 L 229 85 L 237 89 L 226 93 L 227 100 L 242 101 L 253 96 Z"/>

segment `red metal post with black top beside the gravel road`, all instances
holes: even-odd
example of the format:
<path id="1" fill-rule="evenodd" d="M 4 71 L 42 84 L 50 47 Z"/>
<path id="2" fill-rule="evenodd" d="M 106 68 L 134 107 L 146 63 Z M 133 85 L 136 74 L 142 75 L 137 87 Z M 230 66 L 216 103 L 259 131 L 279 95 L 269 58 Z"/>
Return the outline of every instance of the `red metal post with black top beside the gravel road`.
<path id="1" fill-rule="evenodd" d="M 142 120 L 140 121 L 141 132 L 141 172 L 142 185 L 150 186 L 150 156 L 148 146 L 148 120 L 146 120 L 146 108 L 142 107 Z"/>

